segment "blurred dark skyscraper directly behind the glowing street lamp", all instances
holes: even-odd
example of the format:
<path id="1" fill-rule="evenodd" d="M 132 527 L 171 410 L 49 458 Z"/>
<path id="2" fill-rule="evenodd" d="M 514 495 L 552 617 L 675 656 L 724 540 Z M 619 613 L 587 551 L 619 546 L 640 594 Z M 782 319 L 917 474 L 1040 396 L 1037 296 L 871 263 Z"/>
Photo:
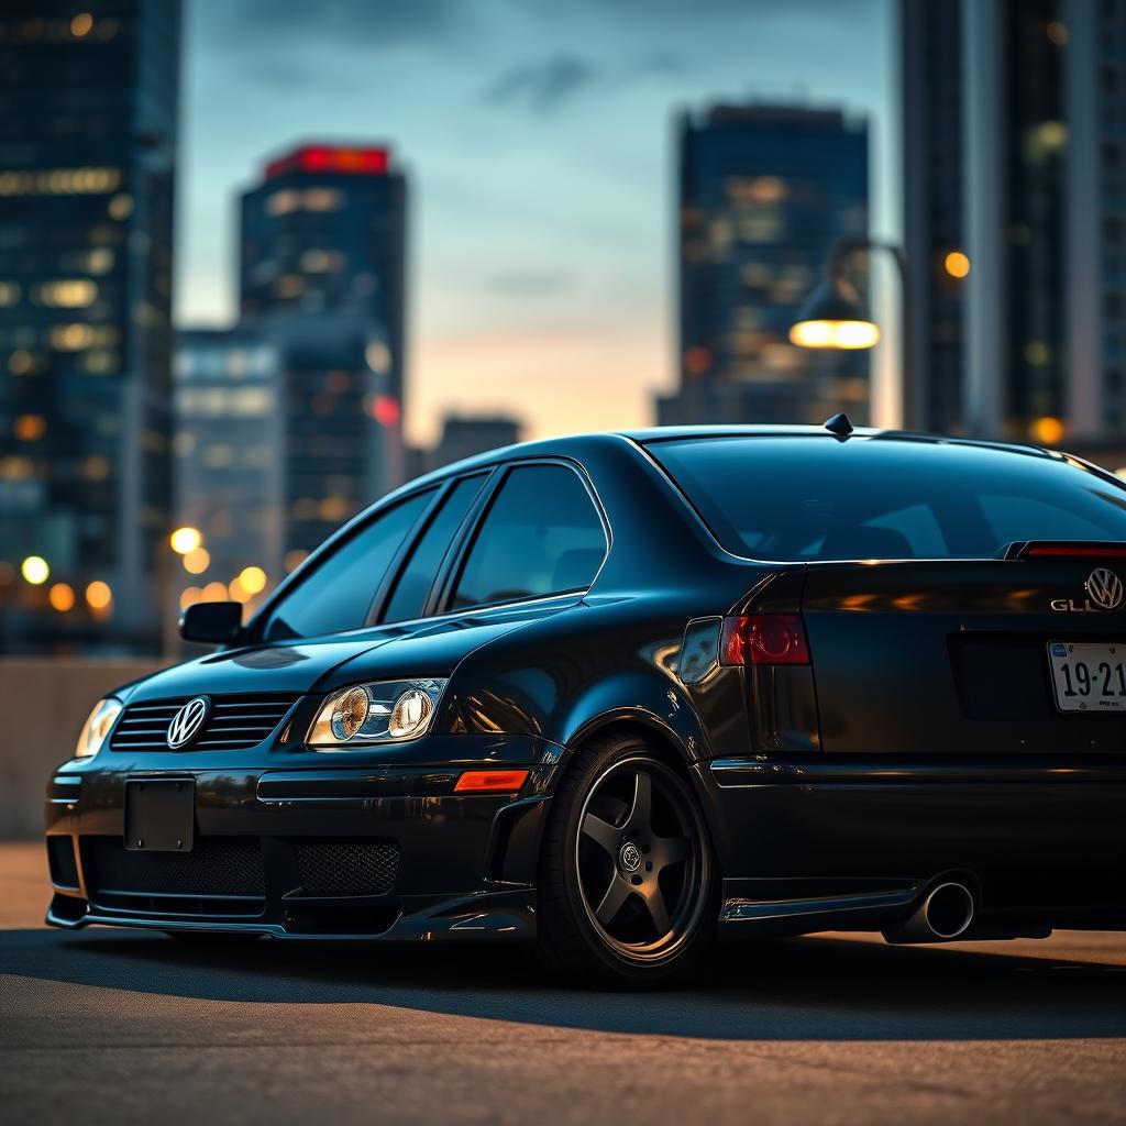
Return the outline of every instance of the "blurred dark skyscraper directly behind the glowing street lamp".
<path id="1" fill-rule="evenodd" d="M 866 419 L 867 354 L 788 341 L 833 241 L 868 233 L 866 124 L 790 106 L 687 114 L 679 196 L 680 386 L 661 421 Z"/>

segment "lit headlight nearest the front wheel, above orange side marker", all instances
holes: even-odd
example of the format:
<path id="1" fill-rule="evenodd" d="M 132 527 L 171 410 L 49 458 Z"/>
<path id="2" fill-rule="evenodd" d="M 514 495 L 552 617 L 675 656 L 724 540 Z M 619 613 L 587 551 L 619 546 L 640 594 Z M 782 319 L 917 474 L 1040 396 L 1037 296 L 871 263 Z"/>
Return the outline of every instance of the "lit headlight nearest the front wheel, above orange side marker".
<path id="1" fill-rule="evenodd" d="M 330 696 L 309 733 L 312 747 L 337 749 L 418 739 L 430 726 L 445 680 L 385 680 Z"/>

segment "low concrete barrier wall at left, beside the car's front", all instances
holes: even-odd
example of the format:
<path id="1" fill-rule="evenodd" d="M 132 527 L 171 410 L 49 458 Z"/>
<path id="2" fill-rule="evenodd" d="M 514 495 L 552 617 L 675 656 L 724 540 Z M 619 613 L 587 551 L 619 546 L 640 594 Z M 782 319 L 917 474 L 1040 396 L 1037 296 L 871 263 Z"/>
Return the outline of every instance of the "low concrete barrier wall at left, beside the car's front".
<path id="1" fill-rule="evenodd" d="M 0 660 L 0 840 L 38 837 L 51 772 L 93 704 L 160 668 L 142 661 Z"/>

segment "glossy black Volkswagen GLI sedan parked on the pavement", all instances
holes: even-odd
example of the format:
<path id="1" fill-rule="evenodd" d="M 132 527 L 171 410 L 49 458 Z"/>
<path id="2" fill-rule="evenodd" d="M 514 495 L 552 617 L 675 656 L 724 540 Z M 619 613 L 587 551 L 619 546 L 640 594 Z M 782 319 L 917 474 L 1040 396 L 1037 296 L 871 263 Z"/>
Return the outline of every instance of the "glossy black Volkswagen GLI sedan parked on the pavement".
<path id="1" fill-rule="evenodd" d="M 332 536 L 101 700 L 47 919 L 511 941 L 1126 929 L 1126 488 L 824 428 L 516 446 Z"/>

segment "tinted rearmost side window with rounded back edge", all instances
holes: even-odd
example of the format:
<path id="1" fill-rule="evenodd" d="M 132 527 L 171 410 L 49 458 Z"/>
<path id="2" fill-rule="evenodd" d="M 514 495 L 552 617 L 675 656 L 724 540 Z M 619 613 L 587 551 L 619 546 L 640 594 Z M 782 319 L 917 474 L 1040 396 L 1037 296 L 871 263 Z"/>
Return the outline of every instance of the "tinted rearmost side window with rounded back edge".
<path id="1" fill-rule="evenodd" d="M 470 551 L 454 606 L 484 606 L 589 587 L 606 535 L 582 481 L 562 465 L 504 479 Z"/>

